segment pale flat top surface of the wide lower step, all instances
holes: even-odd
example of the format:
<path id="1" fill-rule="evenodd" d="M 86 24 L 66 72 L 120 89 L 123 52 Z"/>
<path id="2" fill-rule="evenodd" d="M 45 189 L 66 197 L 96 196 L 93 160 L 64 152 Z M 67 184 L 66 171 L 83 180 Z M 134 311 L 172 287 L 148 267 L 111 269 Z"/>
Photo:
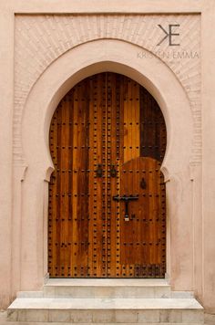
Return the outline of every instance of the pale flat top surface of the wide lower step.
<path id="1" fill-rule="evenodd" d="M 13 309 L 203 309 L 196 299 L 15 299 Z"/>

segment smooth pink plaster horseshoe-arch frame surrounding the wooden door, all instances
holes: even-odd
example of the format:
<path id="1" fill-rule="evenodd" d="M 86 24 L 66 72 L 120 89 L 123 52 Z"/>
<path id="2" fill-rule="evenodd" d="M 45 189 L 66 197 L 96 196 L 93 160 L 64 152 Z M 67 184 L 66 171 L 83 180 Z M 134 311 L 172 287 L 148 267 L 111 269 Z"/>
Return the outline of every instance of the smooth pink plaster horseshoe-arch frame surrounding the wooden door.
<path id="1" fill-rule="evenodd" d="M 14 172 L 14 208 L 22 220 L 14 241 L 20 247 L 16 264 L 19 290 L 41 288 L 47 277 L 47 188 L 54 168 L 48 145 L 52 115 L 58 102 L 78 81 L 105 71 L 136 80 L 148 89 L 162 110 L 168 133 L 161 167 L 167 183 L 167 272 L 172 288 L 193 288 L 194 261 L 190 257 L 194 255 L 192 218 L 196 197 L 192 180 L 194 174 L 200 178 L 200 166 L 190 165 L 193 120 L 189 99 L 163 61 L 147 50 L 144 51 L 149 55 L 137 58 L 139 48 L 110 39 L 82 44 L 46 68 L 28 94 L 21 126 L 26 163 L 15 166 Z M 183 204 L 179 204 L 181 200 Z M 181 254 L 184 241 L 187 254 Z"/>

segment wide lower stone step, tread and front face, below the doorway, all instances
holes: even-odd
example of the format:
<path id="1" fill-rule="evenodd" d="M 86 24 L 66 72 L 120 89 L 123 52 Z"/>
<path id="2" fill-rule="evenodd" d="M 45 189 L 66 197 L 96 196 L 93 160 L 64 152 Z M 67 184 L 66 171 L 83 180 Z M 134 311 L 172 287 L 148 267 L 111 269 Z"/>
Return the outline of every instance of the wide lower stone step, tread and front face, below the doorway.
<path id="1" fill-rule="evenodd" d="M 59 323 L 203 324 L 196 299 L 17 298 L 8 320 Z"/>

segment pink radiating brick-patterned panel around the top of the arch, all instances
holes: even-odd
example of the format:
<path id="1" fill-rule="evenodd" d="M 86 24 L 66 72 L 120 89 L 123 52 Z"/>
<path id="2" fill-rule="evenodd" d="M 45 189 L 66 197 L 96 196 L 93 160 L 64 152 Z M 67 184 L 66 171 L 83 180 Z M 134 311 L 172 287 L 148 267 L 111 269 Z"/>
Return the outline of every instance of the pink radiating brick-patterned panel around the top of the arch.
<path id="1" fill-rule="evenodd" d="M 165 32 L 172 26 L 169 46 Z M 73 47 L 96 39 L 118 39 L 138 45 L 134 60 L 156 55 L 185 89 L 193 116 L 191 163 L 201 160 L 200 16 L 198 15 L 17 15 L 15 16 L 14 159 L 24 163 L 22 114 L 27 96 L 46 68 Z M 141 47 L 148 52 L 142 51 Z M 171 87 L 171 85 L 169 85 Z"/>

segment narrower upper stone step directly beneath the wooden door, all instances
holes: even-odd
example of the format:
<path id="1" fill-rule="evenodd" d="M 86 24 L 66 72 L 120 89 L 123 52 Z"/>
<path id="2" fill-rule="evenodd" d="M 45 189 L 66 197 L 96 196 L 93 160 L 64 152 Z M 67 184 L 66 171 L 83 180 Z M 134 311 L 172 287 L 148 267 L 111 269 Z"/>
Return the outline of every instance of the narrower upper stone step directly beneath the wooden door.
<path id="1" fill-rule="evenodd" d="M 165 279 L 49 279 L 46 298 L 170 298 Z M 22 297 L 22 295 L 19 297 Z"/>

